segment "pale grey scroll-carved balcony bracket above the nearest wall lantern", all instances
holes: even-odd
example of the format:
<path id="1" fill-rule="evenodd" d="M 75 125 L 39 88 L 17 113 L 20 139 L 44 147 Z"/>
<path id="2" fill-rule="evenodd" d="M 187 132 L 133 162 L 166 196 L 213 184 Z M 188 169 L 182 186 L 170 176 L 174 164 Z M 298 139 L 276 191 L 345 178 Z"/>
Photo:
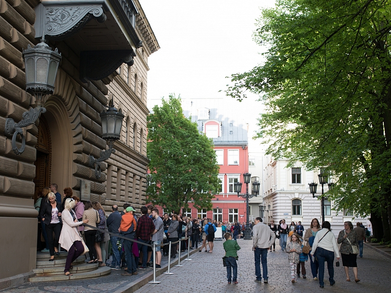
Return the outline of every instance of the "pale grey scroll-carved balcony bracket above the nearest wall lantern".
<path id="1" fill-rule="evenodd" d="M 64 40 L 83 28 L 93 17 L 99 22 L 106 20 L 103 10 L 104 1 L 80 2 L 43 2 L 35 7 L 35 37 L 56 41 Z"/>

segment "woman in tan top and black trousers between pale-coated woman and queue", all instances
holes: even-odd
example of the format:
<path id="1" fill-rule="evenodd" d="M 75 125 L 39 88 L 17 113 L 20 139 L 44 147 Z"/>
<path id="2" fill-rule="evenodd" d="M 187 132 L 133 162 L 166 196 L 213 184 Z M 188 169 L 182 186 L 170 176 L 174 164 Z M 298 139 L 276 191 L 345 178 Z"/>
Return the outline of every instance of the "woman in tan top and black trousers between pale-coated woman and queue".
<path id="1" fill-rule="evenodd" d="M 88 220 L 89 225 L 96 227 L 96 224 L 100 222 L 98 213 L 93 208 L 91 201 L 87 201 L 84 205 L 84 214 L 83 220 Z M 85 227 L 84 229 L 84 237 L 86 238 L 86 244 L 88 249 L 90 250 L 88 253 L 90 255 L 90 261 L 87 263 L 97 263 L 98 262 L 98 254 L 95 249 L 95 236 L 96 231 L 90 227 Z"/>

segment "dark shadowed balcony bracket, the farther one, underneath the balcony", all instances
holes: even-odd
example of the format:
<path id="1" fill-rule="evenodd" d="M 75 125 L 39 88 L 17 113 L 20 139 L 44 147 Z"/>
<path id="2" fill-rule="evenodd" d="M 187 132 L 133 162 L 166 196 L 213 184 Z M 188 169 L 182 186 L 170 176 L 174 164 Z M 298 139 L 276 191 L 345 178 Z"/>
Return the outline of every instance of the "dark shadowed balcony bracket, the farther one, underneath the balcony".
<path id="1" fill-rule="evenodd" d="M 113 73 L 122 63 L 132 66 L 133 50 L 82 51 L 80 53 L 80 80 L 98 81 Z"/>

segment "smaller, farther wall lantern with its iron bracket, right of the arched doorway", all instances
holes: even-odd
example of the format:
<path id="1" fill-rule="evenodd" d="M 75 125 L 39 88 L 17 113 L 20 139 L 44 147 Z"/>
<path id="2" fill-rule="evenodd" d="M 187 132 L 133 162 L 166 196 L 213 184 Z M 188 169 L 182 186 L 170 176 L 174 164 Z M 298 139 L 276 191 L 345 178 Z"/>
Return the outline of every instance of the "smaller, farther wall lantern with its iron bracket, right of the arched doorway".
<path id="1" fill-rule="evenodd" d="M 121 109 L 118 111 L 114 106 L 113 94 L 110 94 L 110 101 L 108 104 L 107 111 L 100 113 L 100 119 L 102 120 L 102 139 L 104 139 L 108 144 L 108 149 L 100 152 L 100 157 L 95 159 L 90 155 L 90 167 L 95 165 L 95 177 L 100 179 L 101 168 L 100 162 L 106 161 L 111 155 L 115 153 L 116 150 L 113 149 L 114 142 L 120 139 L 122 121 L 125 117 L 122 114 Z"/>

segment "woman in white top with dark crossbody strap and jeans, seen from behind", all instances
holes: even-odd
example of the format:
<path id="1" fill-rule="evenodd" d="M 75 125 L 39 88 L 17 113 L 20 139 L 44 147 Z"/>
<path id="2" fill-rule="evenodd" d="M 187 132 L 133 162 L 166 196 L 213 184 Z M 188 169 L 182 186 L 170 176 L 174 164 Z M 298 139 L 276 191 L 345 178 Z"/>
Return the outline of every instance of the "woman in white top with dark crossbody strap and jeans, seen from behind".
<path id="1" fill-rule="evenodd" d="M 330 222 L 324 221 L 322 223 L 322 230 L 320 230 L 314 239 L 312 245 L 311 258 L 316 257 L 319 262 L 319 286 L 324 287 L 324 262 L 327 261 L 328 280 L 330 286 L 334 285 L 334 253 L 337 255 L 337 260 L 340 260 L 340 253 L 338 251 L 338 245 L 336 236 L 331 232 Z"/>

